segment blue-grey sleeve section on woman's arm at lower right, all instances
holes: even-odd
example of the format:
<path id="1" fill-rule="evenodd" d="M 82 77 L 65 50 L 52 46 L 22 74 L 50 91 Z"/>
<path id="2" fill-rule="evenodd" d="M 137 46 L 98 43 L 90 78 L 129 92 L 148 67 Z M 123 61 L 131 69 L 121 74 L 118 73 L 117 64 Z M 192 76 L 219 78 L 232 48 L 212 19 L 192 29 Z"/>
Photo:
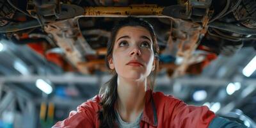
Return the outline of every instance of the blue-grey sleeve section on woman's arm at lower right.
<path id="1" fill-rule="evenodd" d="M 245 125 L 238 124 L 235 121 L 216 116 L 209 125 L 209 128 L 247 128 Z"/>

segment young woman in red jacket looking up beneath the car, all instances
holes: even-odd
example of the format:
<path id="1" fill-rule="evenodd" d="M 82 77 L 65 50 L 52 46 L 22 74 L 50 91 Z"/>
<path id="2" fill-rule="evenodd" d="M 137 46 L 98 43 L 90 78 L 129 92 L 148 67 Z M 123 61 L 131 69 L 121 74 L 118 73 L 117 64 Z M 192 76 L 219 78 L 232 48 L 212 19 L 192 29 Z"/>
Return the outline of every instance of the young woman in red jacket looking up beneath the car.
<path id="1" fill-rule="evenodd" d="M 148 22 L 136 18 L 120 21 L 113 28 L 106 56 L 113 77 L 99 95 L 53 127 L 244 127 L 216 118 L 206 106 L 188 106 L 152 92 L 158 53 L 156 35 Z"/>

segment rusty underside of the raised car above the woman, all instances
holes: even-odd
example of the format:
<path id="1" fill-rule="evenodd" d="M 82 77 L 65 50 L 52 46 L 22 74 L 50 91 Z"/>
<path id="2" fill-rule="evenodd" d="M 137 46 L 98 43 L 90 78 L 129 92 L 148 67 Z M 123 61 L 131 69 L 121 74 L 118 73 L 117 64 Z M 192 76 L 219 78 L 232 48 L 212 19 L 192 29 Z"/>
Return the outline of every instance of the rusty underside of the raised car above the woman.
<path id="1" fill-rule="evenodd" d="M 256 47 L 256 1 L 1 0 L 0 33 L 66 71 L 106 71 L 113 24 L 140 17 L 156 31 L 160 70 L 200 74 L 219 54 Z"/>

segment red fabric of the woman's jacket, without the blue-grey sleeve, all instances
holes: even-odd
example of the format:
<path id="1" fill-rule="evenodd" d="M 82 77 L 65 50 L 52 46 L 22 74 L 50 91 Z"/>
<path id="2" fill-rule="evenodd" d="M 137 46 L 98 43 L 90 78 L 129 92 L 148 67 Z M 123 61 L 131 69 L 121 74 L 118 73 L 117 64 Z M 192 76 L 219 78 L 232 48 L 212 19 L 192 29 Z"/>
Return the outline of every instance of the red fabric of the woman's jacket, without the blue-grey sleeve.
<path id="1" fill-rule="evenodd" d="M 77 111 L 71 111 L 68 118 L 57 122 L 53 128 L 99 127 L 100 121 L 97 117 L 99 102 L 100 97 L 96 95 L 78 106 Z M 209 126 L 214 117 L 214 113 L 206 106 L 189 106 L 172 96 L 148 90 L 140 127 L 204 128 Z"/>

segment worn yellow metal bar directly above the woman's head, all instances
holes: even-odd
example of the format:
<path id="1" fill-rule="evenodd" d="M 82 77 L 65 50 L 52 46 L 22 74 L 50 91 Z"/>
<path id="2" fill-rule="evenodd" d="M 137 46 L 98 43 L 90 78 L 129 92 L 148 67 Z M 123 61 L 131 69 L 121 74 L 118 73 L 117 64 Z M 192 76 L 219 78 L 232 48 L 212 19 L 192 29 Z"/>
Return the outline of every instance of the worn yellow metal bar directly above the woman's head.
<path id="1" fill-rule="evenodd" d="M 85 7 L 84 16 L 90 17 L 167 17 L 162 15 L 164 7 L 154 4 L 131 6 Z"/>

